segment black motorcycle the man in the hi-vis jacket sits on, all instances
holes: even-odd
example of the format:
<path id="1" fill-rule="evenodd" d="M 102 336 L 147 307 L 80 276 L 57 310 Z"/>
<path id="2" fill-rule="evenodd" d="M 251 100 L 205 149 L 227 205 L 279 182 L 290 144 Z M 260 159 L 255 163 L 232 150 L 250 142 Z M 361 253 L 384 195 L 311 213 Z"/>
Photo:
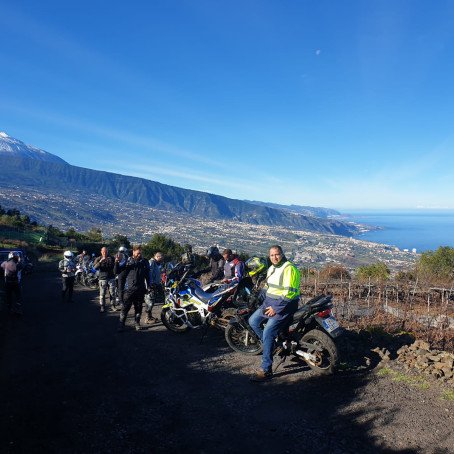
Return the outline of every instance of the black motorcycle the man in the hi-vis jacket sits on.
<path id="1" fill-rule="evenodd" d="M 342 334 L 342 328 L 331 314 L 331 300 L 331 295 L 319 295 L 295 312 L 290 325 L 276 338 L 274 353 L 282 358 L 281 363 L 293 356 L 321 374 L 334 372 L 338 361 L 334 339 Z M 262 343 L 248 322 L 259 305 L 258 298 L 252 297 L 248 307 L 239 308 L 225 329 L 227 343 L 239 353 L 257 355 L 262 352 Z"/>

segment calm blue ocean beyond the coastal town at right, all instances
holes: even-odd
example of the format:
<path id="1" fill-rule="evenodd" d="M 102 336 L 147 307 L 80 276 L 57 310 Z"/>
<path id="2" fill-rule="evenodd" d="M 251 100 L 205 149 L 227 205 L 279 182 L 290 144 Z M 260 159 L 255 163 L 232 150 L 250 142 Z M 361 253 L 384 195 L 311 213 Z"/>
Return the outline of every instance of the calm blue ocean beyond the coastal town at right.
<path id="1" fill-rule="evenodd" d="M 351 210 L 343 214 L 351 221 L 383 228 L 355 236 L 357 239 L 416 252 L 454 247 L 454 210 Z"/>

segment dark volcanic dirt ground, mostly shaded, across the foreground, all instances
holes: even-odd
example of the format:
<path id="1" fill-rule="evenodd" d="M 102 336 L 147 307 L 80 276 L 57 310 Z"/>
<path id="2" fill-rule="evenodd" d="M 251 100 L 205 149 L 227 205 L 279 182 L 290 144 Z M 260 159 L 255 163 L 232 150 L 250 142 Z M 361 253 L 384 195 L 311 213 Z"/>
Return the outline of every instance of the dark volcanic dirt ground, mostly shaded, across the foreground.
<path id="1" fill-rule="evenodd" d="M 117 333 L 96 292 L 78 289 L 73 304 L 59 292 L 57 276 L 36 273 L 24 317 L 1 314 L 2 453 L 454 452 L 454 404 L 434 382 L 289 363 L 255 384 L 259 357 L 220 331 L 202 344 L 161 324 Z"/>

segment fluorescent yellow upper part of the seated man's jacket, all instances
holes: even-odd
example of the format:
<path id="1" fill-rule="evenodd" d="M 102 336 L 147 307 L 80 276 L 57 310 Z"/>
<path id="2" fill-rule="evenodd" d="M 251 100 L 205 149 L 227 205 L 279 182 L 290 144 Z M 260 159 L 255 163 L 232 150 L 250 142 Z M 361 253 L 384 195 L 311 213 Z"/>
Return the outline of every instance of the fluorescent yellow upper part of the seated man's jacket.
<path id="1" fill-rule="evenodd" d="M 266 296 L 272 299 L 282 297 L 293 300 L 300 296 L 300 272 L 291 262 L 285 262 L 280 267 L 271 265 L 266 277 Z"/>

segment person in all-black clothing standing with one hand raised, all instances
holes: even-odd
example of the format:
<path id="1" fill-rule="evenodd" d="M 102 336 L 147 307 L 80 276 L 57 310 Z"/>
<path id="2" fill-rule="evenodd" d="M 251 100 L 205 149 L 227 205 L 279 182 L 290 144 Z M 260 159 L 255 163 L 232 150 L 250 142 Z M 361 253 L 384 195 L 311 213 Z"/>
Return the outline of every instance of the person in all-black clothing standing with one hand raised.
<path id="1" fill-rule="evenodd" d="M 118 331 L 123 331 L 132 305 L 134 305 L 134 326 L 139 331 L 144 297 L 147 289 L 150 288 L 150 265 L 142 257 L 142 246 L 133 247 L 132 257 L 128 259 L 123 269 L 120 267 L 119 257 L 115 257 L 114 273 L 118 274 L 121 271 L 125 273 L 125 291 Z"/>

